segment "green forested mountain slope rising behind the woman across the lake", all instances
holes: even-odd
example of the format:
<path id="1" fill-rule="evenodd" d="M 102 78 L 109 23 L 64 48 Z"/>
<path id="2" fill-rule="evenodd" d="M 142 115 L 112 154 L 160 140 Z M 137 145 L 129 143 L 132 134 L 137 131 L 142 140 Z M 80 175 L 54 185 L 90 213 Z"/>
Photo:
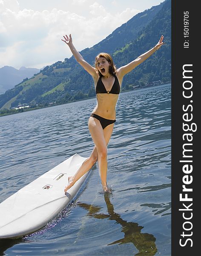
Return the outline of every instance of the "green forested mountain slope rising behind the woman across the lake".
<path id="1" fill-rule="evenodd" d="M 122 90 L 156 80 L 169 81 L 171 77 L 170 0 L 135 15 L 103 41 L 80 53 L 86 61 L 94 64 L 95 56 L 99 52 L 108 52 L 114 58 L 116 67 L 121 67 L 152 48 L 161 35 L 164 35 L 166 44 L 125 76 Z M 31 79 L 24 79 L 13 89 L 0 95 L 0 108 L 9 109 L 19 104 L 42 107 L 92 96 L 95 96 L 93 80 L 72 56 L 63 62 L 57 61 L 51 66 L 46 66 Z"/>

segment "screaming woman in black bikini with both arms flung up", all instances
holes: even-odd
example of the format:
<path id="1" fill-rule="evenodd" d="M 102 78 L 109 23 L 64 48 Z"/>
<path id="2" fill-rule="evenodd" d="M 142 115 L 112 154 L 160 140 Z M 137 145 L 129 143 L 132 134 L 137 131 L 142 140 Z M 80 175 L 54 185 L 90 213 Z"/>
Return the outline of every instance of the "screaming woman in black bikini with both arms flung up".
<path id="1" fill-rule="evenodd" d="M 80 177 L 88 172 L 98 160 L 101 184 L 104 192 L 111 192 L 106 182 L 107 176 L 107 144 L 112 135 L 116 112 L 115 106 L 121 90 L 123 76 L 132 71 L 135 67 L 145 61 L 156 50 L 158 50 L 164 43 L 164 36 L 162 35 L 158 44 L 144 54 L 140 55 L 129 64 L 120 67 L 116 70 L 112 57 L 107 53 L 100 53 L 95 58 L 95 67 L 87 63 L 82 55 L 75 49 L 72 43 L 71 34 L 69 37 L 63 36 L 64 41 L 70 48 L 76 61 L 93 77 L 95 83 L 97 105 L 89 117 L 89 131 L 95 147 L 92 154 L 87 158 L 78 172 L 72 177 L 69 177 L 69 183 L 64 189 L 66 192 L 71 188 Z"/>

